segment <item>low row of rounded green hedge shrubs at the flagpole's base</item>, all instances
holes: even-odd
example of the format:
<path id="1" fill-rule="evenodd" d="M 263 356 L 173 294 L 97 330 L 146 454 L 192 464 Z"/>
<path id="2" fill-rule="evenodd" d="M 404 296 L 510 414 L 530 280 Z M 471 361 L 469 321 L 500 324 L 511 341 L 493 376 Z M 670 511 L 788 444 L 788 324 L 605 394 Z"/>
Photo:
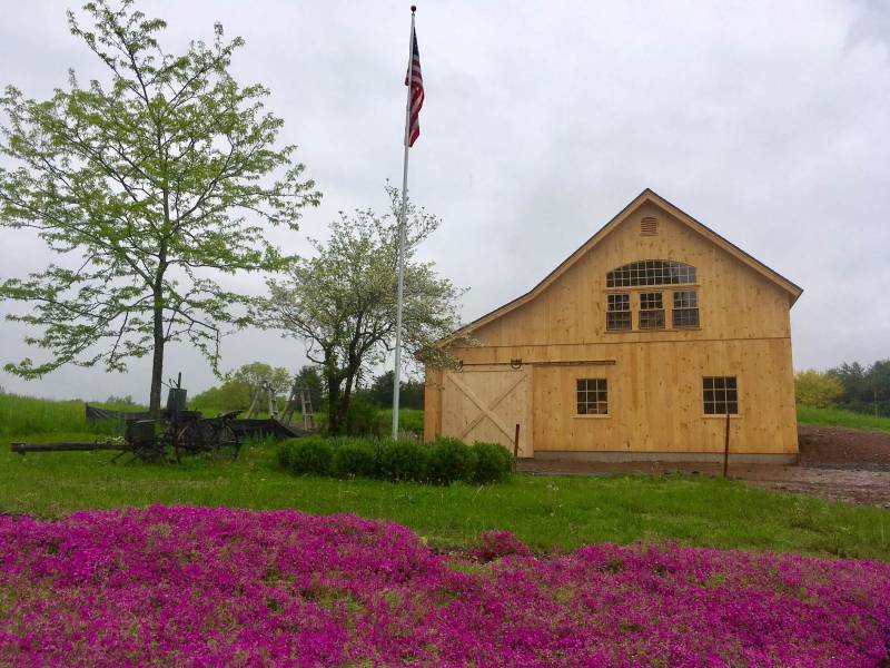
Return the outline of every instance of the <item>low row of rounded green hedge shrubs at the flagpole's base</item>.
<path id="1" fill-rule="evenodd" d="M 285 441 L 278 464 L 296 474 L 374 478 L 451 484 L 501 482 L 513 471 L 513 455 L 496 443 L 467 445 L 439 438 L 432 443 L 363 438 L 307 436 Z"/>

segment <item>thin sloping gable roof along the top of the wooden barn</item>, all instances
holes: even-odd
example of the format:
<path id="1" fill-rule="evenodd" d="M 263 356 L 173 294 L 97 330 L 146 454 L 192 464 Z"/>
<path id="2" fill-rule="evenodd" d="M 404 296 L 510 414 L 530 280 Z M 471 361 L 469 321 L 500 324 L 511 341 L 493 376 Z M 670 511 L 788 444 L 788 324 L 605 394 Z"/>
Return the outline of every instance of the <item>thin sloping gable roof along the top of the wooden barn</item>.
<path id="1" fill-rule="evenodd" d="M 566 271 L 568 271 L 578 259 L 581 259 L 584 255 L 590 253 L 597 244 L 600 244 L 603 239 L 605 239 L 615 228 L 617 228 L 622 223 L 624 223 L 630 215 L 640 208 L 642 205 L 646 203 L 652 203 L 660 208 L 664 209 L 669 214 L 671 214 L 676 220 L 686 225 L 692 230 L 699 233 L 701 236 L 710 240 L 715 246 L 722 248 L 733 257 L 735 257 L 739 262 L 746 265 L 758 274 L 761 274 L 763 277 L 769 279 L 770 282 L 778 285 L 780 288 L 785 291 L 789 295 L 789 307 L 794 305 L 794 302 L 798 301 L 798 297 L 803 293 L 803 288 L 799 285 L 795 285 L 779 272 L 775 272 L 764 265 L 762 262 L 756 259 L 755 257 L 749 255 L 741 248 L 739 248 L 733 243 L 726 240 L 713 229 L 708 227 L 706 225 L 700 223 L 679 207 L 674 206 L 664 197 L 659 195 L 657 193 L 646 188 L 640 195 L 637 195 L 627 206 L 625 206 L 619 214 L 612 218 L 609 223 L 606 223 L 596 234 L 594 234 L 591 238 L 589 238 L 577 250 L 572 253 L 568 257 L 566 257 L 560 266 L 553 269 L 550 274 L 547 274 L 541 283 L 535 285 L 532 289 L 525 293 L 522 296 L 516 297 L 512 302 L 504 304 L 503 306 L 495 308 L 491 313 L 483 315 L 482 317 L 476 318 L 472 323 L 468 323 L 457 330 L 454 334 L 443 340 L 443 343 L 461 335 L 461 334 L 468 334 L 473 330 L 476 330 L 483 325 L 487 325 L 492 321 L 495 321 L 507 313 L 527 304 L 542 292 L 544 292 L 554 281 L 556 281 L 560 276 L 562 276 Z"/>

